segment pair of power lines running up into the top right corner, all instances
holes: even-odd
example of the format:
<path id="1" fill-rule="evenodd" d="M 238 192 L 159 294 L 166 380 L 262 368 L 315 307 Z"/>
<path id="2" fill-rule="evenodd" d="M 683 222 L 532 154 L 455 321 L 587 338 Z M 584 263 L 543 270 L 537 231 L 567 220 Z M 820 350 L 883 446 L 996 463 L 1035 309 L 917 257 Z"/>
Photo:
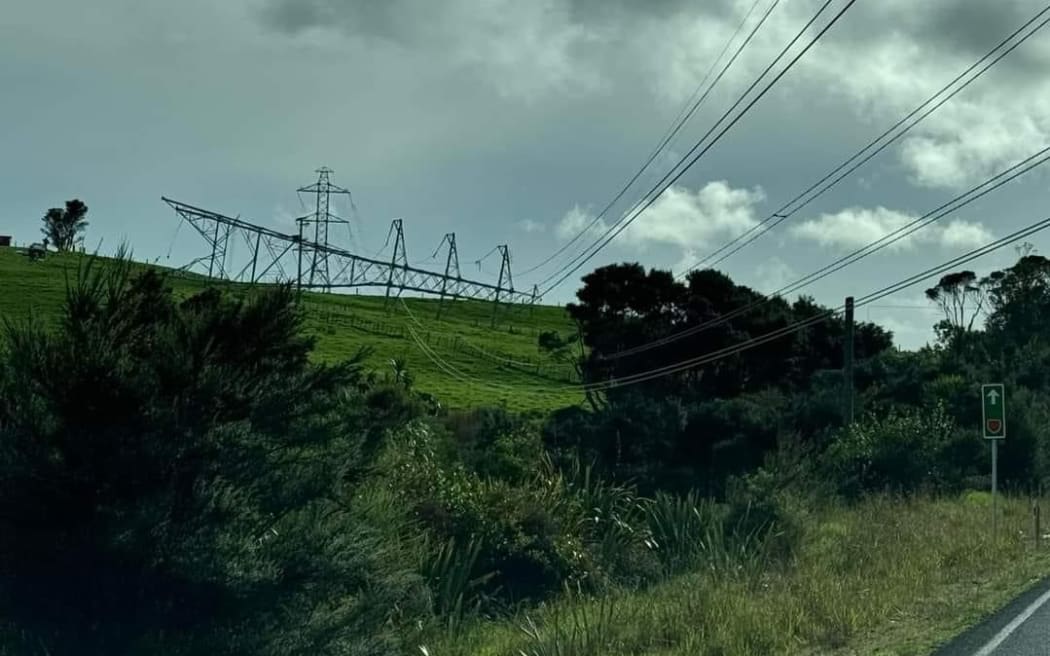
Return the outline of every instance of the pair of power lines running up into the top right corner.
<path id="1" fill-rule="evenodd" d="M 981 70 L 978 70 L 976 73 L 974 73 L 966 82 L 964 82 L 962 85 L 960 85 L 953 91 L 951 91 L 951 93 L 949 93 L 948 96 L 946 96 L 945 98 L 943 98 L 939 102 L 937 102 L 936 105 L 933 105 L 928 110 L 926 110 L 925 112 L 923 112 L 921 115 L 919 115 L 919 118 L 917 118 L 914 122 L 911 122 L 910 125 L 907 125 L 906 127 L 904 127 L 903 130 L 899 131 L 891 139 L 889 139 L 884 144 L 882 144 L 881 146 L 879 146 L 878 149 L 876 149 L 875 151 L 870 152 L 863 160 L 861 160 L 860 162 L 857 162 L 857 164 L 855 164 L 853 167 L 850 167 L 847 171 L 845 171 L 844 173 L 842 173 L 841 175 L 839 175 L 838 177 L 836 177 L 832 182 L 830 182 L 826 185 L 824 185 L 824 183 L 826 183 L 828 179 L 831 179 L 837 173 L 839 173 L 840 171 L 842 171 L 842 169 L 844 169 L 847 166 L 849 166 L 854 161 L 856 161 L 858 157 L 860 157 L 861 155 L 863 155 L 865 152 L 867 152 L 872 148 L 875 148 L 875 146 L 877 144 L 879 144 L 879 142 L 881 142 L 883 139 L 885 139 L 886 136 L 888 136 L 889 134 L 891 134 L 895 130 L 897 130 L 902 125 L 904 125 L 905 123 L 907 123 L 911 118 L 916 117 L 916 114 L 918 114 L 920 111 L 922 111 L 930 103 L 933 103 L 938 99 L 938 97 L 940 97 L 945 91 L 947 91 L 952 86 L 954 86 L 960 80 L 962 80 L 963 78 L 965 78 L 966 76 L 968 76 L 970 72 L 972 72 L 974 69 L 976 69 L 979 66 L 981 66 L 981 64 L 983 64 L 985 61 L 987 61 L 989 58 L 991 58 L 993 55 L 995 55 L 995 52 L 998 50 L 1000 50 L 1006 44 L 1008 44 L 1010 41 L 1012 41 L 1018 34 L 1021 34 L 1022 31 L 1024 31 L 1029 25 L 1031 25 L 1036 20 L 1038 20 L 1040 17 L 1042 17 L 1047 12 L 1050 12 L 1050 5 L 1047 5 L 1043 10 L 1041 10 L 1038 14 L 1036 14 L 1035 16 L 1033 16 L 1032 18 L 1030 18 L 1021 27 L 1018 27 L 1012 34 L 1010 34 L 1008 37 L 1006 37 L 1005 39 L 1003 39 L 998 45 L 995 45 L 995 47 L 993 47 L 991 50 L 989 50 L 984 57 L 982 57 L 976 62 L 974 62 L 972 65 L 970 65 L 969 68 L 967 68 L 963 72 L 959 73 L 953 80 L 951 80 L 951 82 L 949 82 L 948 84 L 946 84 L 943 87 L 941 87 L 940 90 L 938 90 L 936 93 L 933 93 L 928 99 L 926 99 L 923 103 L 921 103 L 918 107 L 916 107 L 910 112 L 908 112 L 900 121 L 898 121 L 892 126 L 890 126 L 882 134 L 880 134 L 879 136 L 875 137 L 870 143 L 868 143 L 862 149 L 860 149 L 859 151 L 857 151 L 856 153 L 854 153 L 845 162 L 843 162 L 842 164 L 840 164 L 839 166 L 837 166 L 835 169 L 833 169 L 826 175 L 824 175 L 819 181 L 817 181 L 816 183 L 814 183 L 813 185 L 811 185 L 808 188 L 806 188 L 804 191 L 802 191 L 801 193 L 799 193 L 798 195 L 796 195 L 794 198 L 792 198 L 791 200 L 789 200 L 788 203 L 785 203 L 783 206 L 780 207 L 780 209 L 778 209 L 775 212 L 773 212 L 772 214 L 770 214 L 769 217 L 766 217 L 765 219 L 763 219 L 759 224 L 756 224 L 755 226 L 752 226 L 747 231 L 744 231 L 743 233 L 737 235 L 733 239 L 730 239 L 728 242 L 726 242 L 724 245 L 722 245 L 718 249 L 712 251 L 708 255 L 701 257 L 699 260 L 697 260 L 696 262 L 694 262 L 691 267 L 689 267 L 688 269 L 686 269 L 686 271 L 677 274 L 676 277 L 682 277 L 686 274 L 688 274 L 689 272 L 695 271 L 700 266 L 705 264 L 706 262 L 711 261 L 712 258 L 715 258 L 720 253 L 723 253 L 727 249 L 730 249 L 734 245 L 739 244 L 741 240 L 747 239 L 746 241 L 743 241 L 743 244 L 740 244 L 735 249 L 733 249 L 730 252 L 726 253 L 721 257 L 718 257 L 718 259 L 715 259 L 713 262 L 711 262 L 709 264 L 709 267 L 715 267 L 715 266 L 717 266 L 718 263 L 724 261 L 726 259 L 728 259 L 729 257 L 731 257 L 735 253 L 739 252 L 740 250 L 747 248 L 749 245 L 753 244 L 756 239 L 758 239 L 759 237 L 761 237 L 762 235 L 764 235 L 770 230 L 773 230 L 774 228 L 776 228 L 777 226 L 779 226 L 783 221 L 785 221 L 789 218 L 791 218 L 794 214 L 796 214 L 802 208 L 806 207 L 807 205 L 810 205 L 811 203 L 813 203 L 814 200 L 816 200 L 817 198 L 819 198 L 820 196 L 822 196 L 832 187 L 834 187 L 835 185 L 839 184 L 843 178 L 845 178 L 846 176 L 848 176 L 850 173 L 853 173 L 858 168 L 860 168 L 861 166 L 863 166 L 864 164 L 866 164 L 867 162 L 869 162 L 873 157 L 875 157 L 876 155 L 878 155 L 879 153 L 881 153 L 883 150 L 885 150 L 891 144 L 894 144 L 895 142 L 897 142 L 898 140 L 900 140 L 902 136 L 904 136 L 905 134 L 907 134 L 908 131 L 911 130 L 911 128 L 914 128 L 915 126 L 917 126 L 920 123 L 922 123 L 927 117 L 929 117 L 931 113 L 933 113 L 934 111 L 937 111 L 942 105 L 944 105 L 945 103 L 947 103 L 949 100 L 951 100 L 952 98 L 954 98 L 960 91 L 962 91 L 963 89 L 965 89 L 966 87 L 968 87 L 970 84 L 972 84 L 974 81 L 976 81 L 978 78 L 980 78 L 981 76 L 983 76 L 985 73 L 985 71 L 987 71 L 989 68 L 991 68 L 992 66 L 994 66 L 996 63 L 999 63 L 1007 55 L 1009 55 L 1010 52 L 1012 52 L 1022 43 L 1024 43 L 1029 38 L 1031 38 L 1032 36 L 1034 36 L 1035 33 L 1037 33 L 1048 22 L 1050 22 L 1050 18 L 1045 19 L 1042 23 L 1040 23 L 1038 25 L 1036 25 L 1031 31 L 1029 31 L 1027 35 L 1025 35 L 1024 37 L 1022 37 L 1022 39 L 1020 41 L 1017 41 L 1016 43 L 1014 43 L 1013 45 L 1011 45 L 1009 48 L 1007 48 L 1006 50 L 1004 50 L 1003 52 L 1001 52 L 998 57 L 995 57 L 995 59 L 993 59 L 992 61 L 988 62 L 988 64 L 985 65 L 983 68 L 981 68 Z M 821 185 L 824 185 L 824 186 L 819 191 L 817 191 L 813 195 L 810 195 L 808 198 L 806 198 L 801 205 L 798 205 L 797 207 L 793 207 L 793 206 L 795 206 L 796 203 L 798 203 L 799 200 L 801 200 L 802 198 L 804 198 L 806 195 L 808 195 L 811 192 L 813 192 L 815 189 L 817 189 Z M 757 234 L 755 234 L 756 231 L 758 231 Z M 749 235 L 753 235 L 753 236 L 751 236 L 749 238 Z"/>

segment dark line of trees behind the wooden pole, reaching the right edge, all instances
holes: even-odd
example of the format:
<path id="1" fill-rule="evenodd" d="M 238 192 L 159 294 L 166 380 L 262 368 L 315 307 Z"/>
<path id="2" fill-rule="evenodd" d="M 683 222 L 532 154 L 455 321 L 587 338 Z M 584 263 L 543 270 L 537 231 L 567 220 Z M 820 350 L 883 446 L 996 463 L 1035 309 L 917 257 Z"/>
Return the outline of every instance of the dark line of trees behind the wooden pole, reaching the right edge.
<path id="1" fill-rule="evenodd" d="M 926 296 L 944 319 L 934 326 L 937 342 L 919 352 L 898 352 L 888 331 L 857 324 L 861 416 L 941 403 L 965 432 L 978 426 L 980 383 L 1007 381 L 1032 406 L 1017 411 L 1014 453 L 1025 454 L 1016 456 L 1014 480 L 1034 481 L 1042 475 L 1034 451 L 1043 442 L 1032 426 L 1042 411 L 1038 395 L 1050 392 L 1050 260 L 1028 251 L 984 277 L 944 276 Z M 677 281 L 669 272 L 625 263 L 587 275 L 568 311 L 579 337 L 548 334 L 541 350 L 571 357 L 569 342 L 581 340 L 586 350 L 574 356 L 578 366 L 587 381 L 603 382 L 717 354 L 828 309 L 806 297 L 764 297 L 716 271 Z M 785 442 L 823 449 L 839 433 L 844 335 L 836 316 L 673 375 L 593 394 L 589 411 L 565 410 L 550 422 L 548 441 L 652 488 L 720 493 L 728 477 L 754 469 Z M 937 457 L 957 459 L 958 482 L 979 472 L 980 461 L 978 442 L 957 437 L 956 454 Z"/>

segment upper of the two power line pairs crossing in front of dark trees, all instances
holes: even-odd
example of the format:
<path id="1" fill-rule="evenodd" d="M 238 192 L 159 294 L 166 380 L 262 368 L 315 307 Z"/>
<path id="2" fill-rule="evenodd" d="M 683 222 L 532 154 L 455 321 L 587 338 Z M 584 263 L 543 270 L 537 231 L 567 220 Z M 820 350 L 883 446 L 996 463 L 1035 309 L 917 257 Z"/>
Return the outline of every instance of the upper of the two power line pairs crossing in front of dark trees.
<path id="1" fill-rule="evenodd" d="M 798 290 L 804 287 L 813 284 L 814 282 L 821 280 L 823 278 L 826 278 L 833 273 L 841 271 L 845 267 L 848 267 L 849 264 L 853 264 L 867 257 L 868 255 L 872 255 L 873 253 L 881 251 L 882 249 L 887 248 L 892 244 L 896 244 L 901 239 L 910 236 L 911 234 L 925 228 L 926 226 L 929 226 L 930 224 L 940 220 L 941 218 L 944 218 L 948 214 L 958 211 L 959 209 L 969 205 L 970 203 L 973 203 L 974 200 L 978 200 L 979 198 L 984 197 L 985 195 L 991 193 L 995 189 L 999 189 L 1000 187 L 1006 185 L 1007 183 L 1012 182 L 1013 179 L 1016 179 L 1021 175 L 1024 175 L 1025 173 L 1031 171 L 1032 169 L 1045 164 L 1048 160 L 1050 160 L 1050 147 L 1038 150 L 1034 154 L 1029 155 L 1028 157 L 1022 160 L 1017 164 L 1014 164 L 1013 166 L 1010 166 L 1009 168 L 1001 171 L 1000 173 L 996 173 L 995 175 L 986 179 L 980 185 L 970 188 L 964 193 L 956 196 L 954 198 L 948 200 L 947 203 L 942 204 L 941 206 L 934 208 L 933 210 L 930 210 L 929 212 L 914 219 L 912 221 L 905 224 L 904 226 L 901 226 L 900 228 L 883 235 L 882 237 L 879 237 L 874 241 L 866 244 L 865 246 L 859 249 L 854 250 L 853 252 L 846 255 L 843 255 L 842 257 L 836 259 L 830 264 L 825 264 L 824 267 L 821 267 L 820 269 L 817 269 L 816 271 L 811 272 L 802 276 L 801 278 L 798 278 L 795 281 L 783 285 L 782 288 L 773 292 L 769 296 L 763 297 L 761 300 L 752 301 L 750 303 L 741 305 L 740 308 L 737 308 L 736 310 L 728 312 L 717 317 L 716 319 L 700 323 L 698 325 L 690 326 L 686 330 L 679 331 L 678 333 L 674 333 L 672 335 L 668 335 L 660 339 L 653 340 L 645 344 L 639 344 L 631 348 L 625 348 L 623 351 L 613 354 L 609 354 L 608 356 L 605 356 L 605 358 L 612 360 L 642 353 L 644 351 L 649 351 L 650 348 L 664 346 L 666 344 L 678 341 L 679 339 L 684 339 L 691 335 L 695 335 L 708 329 L 721 325 L 740 315 L 747 314 L 748 312 L 751 312 L 752 310 L 755 310 L 770 302 L 774 298 L 780 298 L 786 294 L 792 294 L 794 292 L 797 292 Z"/>

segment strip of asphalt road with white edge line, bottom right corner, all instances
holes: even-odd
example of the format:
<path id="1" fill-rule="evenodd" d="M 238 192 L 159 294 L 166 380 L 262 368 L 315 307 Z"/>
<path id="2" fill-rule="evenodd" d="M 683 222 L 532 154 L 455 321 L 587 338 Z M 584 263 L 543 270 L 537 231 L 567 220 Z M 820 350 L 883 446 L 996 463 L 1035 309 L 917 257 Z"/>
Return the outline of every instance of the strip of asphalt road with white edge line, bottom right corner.
<path id="1" fill-rule="evenodd" d="M 934 656 L 1050 656 L 1050 579 L 1032 587 Z"/>

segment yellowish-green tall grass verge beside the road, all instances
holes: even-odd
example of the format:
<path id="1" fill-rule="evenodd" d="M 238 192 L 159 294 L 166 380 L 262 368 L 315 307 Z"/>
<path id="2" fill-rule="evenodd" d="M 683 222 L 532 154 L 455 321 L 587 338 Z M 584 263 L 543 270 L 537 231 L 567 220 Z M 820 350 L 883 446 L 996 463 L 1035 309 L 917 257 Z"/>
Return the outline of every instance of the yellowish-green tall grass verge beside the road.
<path id="1" fill-rule="evenodd" d="M 477 623 L 432 644 L 430 653 L 928 653 L 1050 572 L 1050 555 L 1033 546 L 1028 501 L 1005 500 L 1001 507 L 998 537 L 989 509 L 967 498 L 881 498 L 830 508 L 807 519 L 803 544 L 786 565 L 760 549 L 722 549 L 716 562 L 742 558 L 735 562 L 747 566 L 729 568 L 734 575 L 722 566 L 701 567 L 602 599 L 567 595 L 527 616 Z M 685 500 L 663 500 L 659 508 L 654 516 L 665 526 L 673 517 L 702 526 Z M 673 543 L 676 534 L 668 529 L 664 538 Z M 676 557 L 704 562 L 686 547 Z"/>

